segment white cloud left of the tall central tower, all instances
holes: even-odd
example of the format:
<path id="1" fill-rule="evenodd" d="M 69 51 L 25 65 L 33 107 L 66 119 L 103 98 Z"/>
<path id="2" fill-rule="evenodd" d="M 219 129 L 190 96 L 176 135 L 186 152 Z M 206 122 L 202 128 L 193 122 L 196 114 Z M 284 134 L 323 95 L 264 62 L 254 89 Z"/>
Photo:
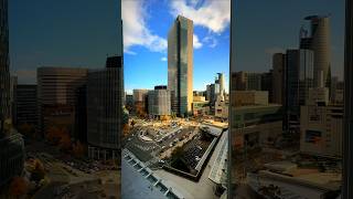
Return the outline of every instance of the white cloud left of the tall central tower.
<path id="1" fill-rule="evenodd" d="M 141 45 L 152 52 L 165 52 L 167 40 L 152 34 L 148 29 L 146 19 L 147 1 L 143 0 L 122 0 L 122 29 L 124 29 L 124 52 L 136 54 L 130 49 L 133 45 Z"/>

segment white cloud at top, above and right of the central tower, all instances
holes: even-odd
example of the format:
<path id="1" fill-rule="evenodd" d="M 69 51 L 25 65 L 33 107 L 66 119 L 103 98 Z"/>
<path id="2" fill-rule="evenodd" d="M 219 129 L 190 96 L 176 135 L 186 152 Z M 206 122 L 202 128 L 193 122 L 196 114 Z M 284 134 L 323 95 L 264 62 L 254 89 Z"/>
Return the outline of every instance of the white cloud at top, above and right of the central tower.
<path id="1" fill-rule="evenodd" d="M 231 0 L 178 0 L 172 1 L 171 14 L 184 15 L 195 25 L 207 28 L 214 33 L 223 32 L 231 21 Z"/>

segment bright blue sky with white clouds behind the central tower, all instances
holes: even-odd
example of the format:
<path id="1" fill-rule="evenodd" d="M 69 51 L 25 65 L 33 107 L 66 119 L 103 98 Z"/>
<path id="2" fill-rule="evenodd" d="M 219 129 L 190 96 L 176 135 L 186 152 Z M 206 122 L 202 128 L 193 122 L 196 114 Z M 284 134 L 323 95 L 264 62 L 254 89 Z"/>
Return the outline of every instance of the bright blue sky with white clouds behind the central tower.
<path id="1" fill-rule="evenodd" d="M 125 87 L 168 84 L 168 32 L 178 14 L 194 22 L 193 90 L 228 77 L 229 0 L 122 0 Z"/>

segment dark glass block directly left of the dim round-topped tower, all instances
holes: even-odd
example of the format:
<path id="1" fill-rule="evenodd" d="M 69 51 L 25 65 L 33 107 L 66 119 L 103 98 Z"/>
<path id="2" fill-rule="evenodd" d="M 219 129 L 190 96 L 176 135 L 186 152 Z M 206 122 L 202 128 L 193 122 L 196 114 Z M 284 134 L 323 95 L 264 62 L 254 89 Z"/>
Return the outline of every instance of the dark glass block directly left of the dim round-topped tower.
<path id="1" fill-rule="evenodd" d="M 291 121 L 299 121 L 300 106 L 308 100 L 313 87 L 313 52 L 287 50 L 286 108 Z"/>

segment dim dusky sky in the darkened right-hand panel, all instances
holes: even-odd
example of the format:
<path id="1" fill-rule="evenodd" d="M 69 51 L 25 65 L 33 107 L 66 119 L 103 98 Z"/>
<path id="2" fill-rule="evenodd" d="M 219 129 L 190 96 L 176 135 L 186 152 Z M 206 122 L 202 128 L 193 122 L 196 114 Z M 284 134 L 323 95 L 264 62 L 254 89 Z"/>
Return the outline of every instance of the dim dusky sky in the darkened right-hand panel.
<path id="1" fill-rule="evenodd" d="M 344 0 L 239 0 L 235 13 L 235 70 L 260 72 L 271 67 L 272 53 L 298 49 L 304 17 L 331 14 L 331 70 L 342 80 Z"/>

